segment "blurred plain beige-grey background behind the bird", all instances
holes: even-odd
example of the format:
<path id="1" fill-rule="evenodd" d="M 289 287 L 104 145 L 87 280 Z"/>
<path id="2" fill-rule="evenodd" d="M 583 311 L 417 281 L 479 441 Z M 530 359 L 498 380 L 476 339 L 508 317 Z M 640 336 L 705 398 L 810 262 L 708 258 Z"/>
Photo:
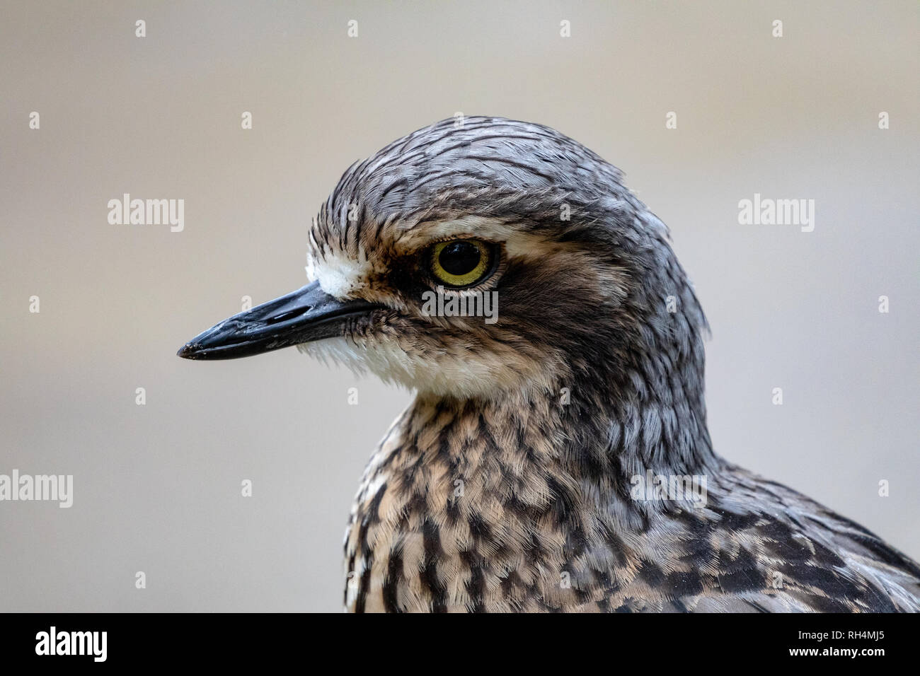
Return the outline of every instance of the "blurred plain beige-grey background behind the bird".
<path id="1" fill-rule="evenodd" d="M 294 349 L 175 352 L 303 285 L 340 174 L 456 112 L 623 169 L 707 310 L 717 451 L 920 557 L 918 11 L 3 2 L 0 474 L 74 475 L 74 505 L 0 502 L 0 610 L 340 609 L 351 498 L 410 395 Z M 184 230 L 109 224 L 126 192 L 185 200 Z M 814 200 L 814 231 L 739 224 L 754 193 Z"/>

